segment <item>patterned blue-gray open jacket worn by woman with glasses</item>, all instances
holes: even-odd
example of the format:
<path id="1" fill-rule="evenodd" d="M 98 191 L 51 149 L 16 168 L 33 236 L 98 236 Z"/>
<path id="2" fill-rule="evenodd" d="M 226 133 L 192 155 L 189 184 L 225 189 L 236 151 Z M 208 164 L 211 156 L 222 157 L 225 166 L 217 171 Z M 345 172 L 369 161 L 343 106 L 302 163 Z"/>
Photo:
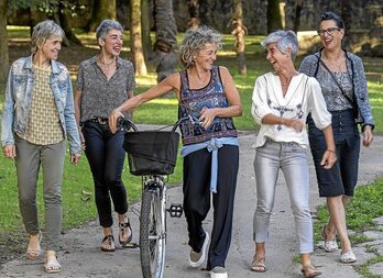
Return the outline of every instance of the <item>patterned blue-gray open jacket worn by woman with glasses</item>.
<path id="1" fill-rule="evenodd" d="M 299 71 L 316 77 L 319 68 L 320 53 L 321 49 L 305 57 L 300 64 Z M 344 54 L 347 57 L 347 70 L 352 78 L 353 93 L 362 119 L 362 130 L 366 124 L 371 125 L 371 129 L 374 129 L 362 59 L 347 51 L 344 51 Z"/>

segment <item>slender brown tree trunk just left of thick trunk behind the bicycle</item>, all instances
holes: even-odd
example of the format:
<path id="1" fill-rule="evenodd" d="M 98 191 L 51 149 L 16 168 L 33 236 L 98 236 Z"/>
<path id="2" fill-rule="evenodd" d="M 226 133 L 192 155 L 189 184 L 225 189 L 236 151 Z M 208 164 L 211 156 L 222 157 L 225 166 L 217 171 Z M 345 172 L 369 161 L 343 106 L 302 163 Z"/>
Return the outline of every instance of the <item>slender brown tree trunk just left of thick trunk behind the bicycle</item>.
<path id="1" fill-rule="evenodd" d="M 142 26 L 142 46 L 145 62 L 147 63 L 152 55 L 152 38 L 151 38 L 151 5 L 150 0 L 141 0 L 141 26 Z"/>

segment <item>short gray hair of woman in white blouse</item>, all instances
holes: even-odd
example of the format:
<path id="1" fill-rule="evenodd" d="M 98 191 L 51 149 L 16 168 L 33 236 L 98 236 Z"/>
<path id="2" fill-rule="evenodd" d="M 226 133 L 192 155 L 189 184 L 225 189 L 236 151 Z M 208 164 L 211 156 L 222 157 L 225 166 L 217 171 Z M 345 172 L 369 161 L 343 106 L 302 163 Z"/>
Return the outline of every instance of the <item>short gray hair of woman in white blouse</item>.
<path id="1" fill-rule="evenodd" d="M 298 38 L 292 30 L 278 30 L 273 33 L 270 33 L 267 37 L 261 42 L 261 45 L 266 48 L 269 44 L 276 44 L 276 48 L 280 49 L 283 54 L 287 52 L 288 48 L 292 49 L 292 59 L 296 58 L 298 54 Z"/>

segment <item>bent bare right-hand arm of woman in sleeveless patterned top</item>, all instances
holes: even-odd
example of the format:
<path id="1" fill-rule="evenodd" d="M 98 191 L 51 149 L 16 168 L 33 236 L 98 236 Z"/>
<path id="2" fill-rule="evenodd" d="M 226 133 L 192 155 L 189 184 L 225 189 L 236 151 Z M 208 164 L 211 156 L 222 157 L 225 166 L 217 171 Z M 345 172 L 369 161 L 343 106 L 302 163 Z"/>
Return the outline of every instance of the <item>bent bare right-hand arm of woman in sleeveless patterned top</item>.
<path id="1" fill-rule="evenodd" d="M 219 67 L 219 70 L 223 82 L 225 93 L 228 98 L 229 107 L 211 109 L 204 108 L 198 119 L 203 123 L 204 127 L 208 127 L 216 116 L 232 118 L 242 115 L 241 99 L 229 70 L 226 67 Z"/>

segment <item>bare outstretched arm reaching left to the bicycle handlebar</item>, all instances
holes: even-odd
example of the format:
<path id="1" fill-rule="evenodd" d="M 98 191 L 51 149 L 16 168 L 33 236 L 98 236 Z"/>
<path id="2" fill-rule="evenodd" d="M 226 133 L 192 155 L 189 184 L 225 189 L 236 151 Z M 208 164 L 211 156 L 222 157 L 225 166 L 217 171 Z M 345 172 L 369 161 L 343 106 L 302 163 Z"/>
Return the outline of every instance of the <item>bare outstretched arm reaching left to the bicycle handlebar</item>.
<path id="1" fill-rule="evenodd" d="M 168 91 L 176 91 L 176 94 L 178 97 L 178 90 L 179 90 L 180 81 L 179 81 L 179 74 L 173 74 L 162 80 L 160 84 L 156 86 L 152 87 L 151 89 L 132 97 L 131 99 L 127 100 L 123 102 L 120 107 L 114 109 L 110 115 L 109 115 L 109 129 L 112 133 L 117 131 L 117 120 L 122 116 L 122 112 L 132 110 L 142 103 L 145 103 L 152 99 L 155 99 L 157 97 L 161 97 Z"/>

